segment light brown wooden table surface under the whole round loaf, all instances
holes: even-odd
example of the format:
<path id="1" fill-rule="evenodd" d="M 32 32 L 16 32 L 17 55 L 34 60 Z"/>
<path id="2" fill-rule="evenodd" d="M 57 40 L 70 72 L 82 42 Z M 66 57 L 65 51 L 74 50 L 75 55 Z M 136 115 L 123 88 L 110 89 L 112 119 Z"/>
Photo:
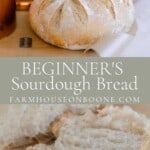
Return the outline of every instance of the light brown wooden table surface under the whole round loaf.
<path id="1" fill-rule="evenodd" d="M 19 39 L 21 37 L 31 37 L 33 39 L 33 47 L 19 48 Z M 91 57 L 96 56 L 96 54 L 93 51 L 84 53 L 83 51 L 65 50 L 45 43 L 37 37 L 30 28 L 28 12 L 17 11 L 16 28 L 14 32 L 9 36 L 0 39 L 0 56 Z"/>

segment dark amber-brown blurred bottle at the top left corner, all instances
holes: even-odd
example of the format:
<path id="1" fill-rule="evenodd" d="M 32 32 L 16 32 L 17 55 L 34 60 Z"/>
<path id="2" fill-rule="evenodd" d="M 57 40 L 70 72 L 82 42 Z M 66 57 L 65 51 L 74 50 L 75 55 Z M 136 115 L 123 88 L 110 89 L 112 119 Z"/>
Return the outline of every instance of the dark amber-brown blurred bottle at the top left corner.
<path id="1" fill-rule="evenodd" d="M 1 0 L 0 2 L 0 38 L 8 35 L 15 22 L 16 2 L 15 0 Z"/>

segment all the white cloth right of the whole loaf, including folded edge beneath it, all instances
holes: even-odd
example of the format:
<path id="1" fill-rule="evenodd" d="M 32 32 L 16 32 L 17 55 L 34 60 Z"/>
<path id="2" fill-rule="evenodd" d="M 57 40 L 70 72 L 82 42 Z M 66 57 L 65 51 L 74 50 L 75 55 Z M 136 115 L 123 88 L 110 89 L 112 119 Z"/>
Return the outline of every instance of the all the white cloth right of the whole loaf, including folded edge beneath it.
<path id="1" fill-rule="evenodd" d="M 133 37 L 122 33 L 95 43 L 92 48 L 101 57 L 150 57 L 150 0 L 136 0 L 138 30 Z"/>

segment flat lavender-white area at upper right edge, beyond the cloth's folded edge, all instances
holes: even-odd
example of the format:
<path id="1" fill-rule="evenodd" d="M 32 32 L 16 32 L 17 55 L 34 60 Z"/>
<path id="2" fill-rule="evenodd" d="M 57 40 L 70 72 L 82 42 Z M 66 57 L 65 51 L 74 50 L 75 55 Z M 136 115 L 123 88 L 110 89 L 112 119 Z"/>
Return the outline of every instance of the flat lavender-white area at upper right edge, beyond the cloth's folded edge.
<path id="1" fill-rule="evenodd" d="M 138 25 L 137 34 L 119 56 L 150 57 L 150 0 L 137 0 L 135 10 Z"/>

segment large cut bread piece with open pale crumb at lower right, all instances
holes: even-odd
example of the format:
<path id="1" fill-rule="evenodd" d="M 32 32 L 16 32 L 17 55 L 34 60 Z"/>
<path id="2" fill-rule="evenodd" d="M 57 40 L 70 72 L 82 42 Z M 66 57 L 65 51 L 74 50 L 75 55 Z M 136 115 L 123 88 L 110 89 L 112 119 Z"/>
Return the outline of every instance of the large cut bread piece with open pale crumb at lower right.
<path id="1" fill-rule="evenodd" d="M 149 150 L 150 121 L 129 107 L 105 107 L 68 118 L 55 150 Z"/>

